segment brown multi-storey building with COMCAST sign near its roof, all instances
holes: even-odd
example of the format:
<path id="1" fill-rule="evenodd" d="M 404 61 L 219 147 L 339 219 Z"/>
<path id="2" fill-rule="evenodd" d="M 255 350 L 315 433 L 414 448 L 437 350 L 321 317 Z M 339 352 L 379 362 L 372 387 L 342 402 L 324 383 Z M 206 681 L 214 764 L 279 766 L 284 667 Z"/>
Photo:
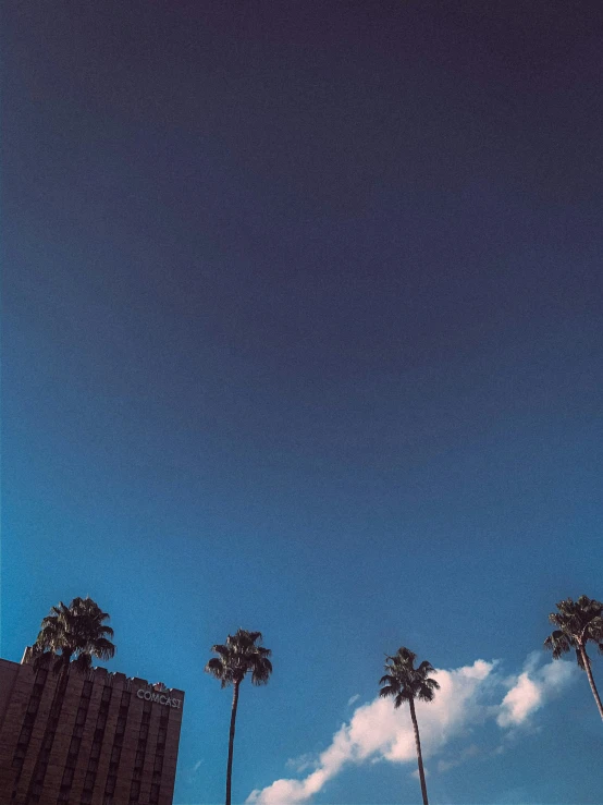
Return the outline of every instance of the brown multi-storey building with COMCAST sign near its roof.
<path id="1" fill-rule="evenodd" d="M 184 693 L 0 659 L 1 805 L 172 805 Z"/>

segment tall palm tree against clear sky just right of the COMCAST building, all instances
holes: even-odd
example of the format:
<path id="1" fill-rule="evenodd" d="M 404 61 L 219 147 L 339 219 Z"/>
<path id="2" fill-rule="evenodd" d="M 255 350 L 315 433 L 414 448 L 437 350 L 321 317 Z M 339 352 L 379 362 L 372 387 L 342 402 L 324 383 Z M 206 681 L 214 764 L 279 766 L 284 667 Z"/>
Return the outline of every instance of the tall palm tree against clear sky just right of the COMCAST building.
<path id="1" fill-rule="evenodd" d="M 231 731 L 229 736 L 229 763 L 226 766 L 226 805 L 231 805 L 231 784 L 233 771 L 234 729 L 236 708 L 238 706 L 238 688 L 247 673 L 251 673 L 254 685 L 264 685 L 272 673 L 272 663 L 268 659 L 272 651 L 259 646 L 262 639 L 261 632 L 246 632 L 237 630 L 235 635 L 229 635 L 225 645 L 212 646 L 211 650 L 218 657 L 212 657 L 205 667 L 220 680 L 221 687 L 233 686 L 233 704 L 231 710 Z"/>

